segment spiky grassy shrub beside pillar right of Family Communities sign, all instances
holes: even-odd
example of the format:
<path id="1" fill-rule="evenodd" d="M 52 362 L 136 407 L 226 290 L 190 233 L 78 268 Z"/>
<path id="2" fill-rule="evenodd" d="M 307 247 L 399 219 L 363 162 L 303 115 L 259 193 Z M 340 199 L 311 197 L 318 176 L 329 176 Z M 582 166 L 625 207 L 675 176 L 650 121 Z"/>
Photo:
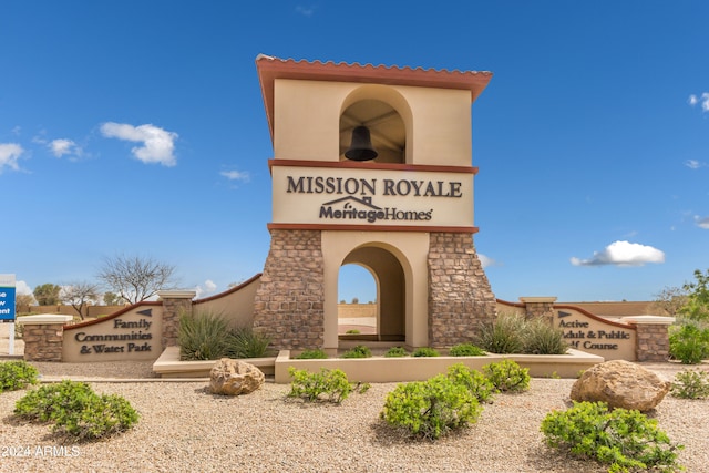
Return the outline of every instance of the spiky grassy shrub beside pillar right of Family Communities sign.
<path id="1" fill-rule="evenodd" d="M 217 360 L 227 356 L 228 325 L 212 312 L 183 313 L 177 338 L 181 360 Z"/>

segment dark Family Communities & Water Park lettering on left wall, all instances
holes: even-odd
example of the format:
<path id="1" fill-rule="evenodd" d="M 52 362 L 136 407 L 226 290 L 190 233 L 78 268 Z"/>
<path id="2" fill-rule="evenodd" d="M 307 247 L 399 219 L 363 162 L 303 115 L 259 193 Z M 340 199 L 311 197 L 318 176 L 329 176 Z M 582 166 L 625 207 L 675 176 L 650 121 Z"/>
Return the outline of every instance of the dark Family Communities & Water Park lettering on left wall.
<path id="1" fill-rule="evenodd" d="M 122 319 L 113 320 L 114 330 L 122 329 L 141 329 L 141 330 L 131 330 L 130 332 L 117 332 L 117 333 L 101 333 L 101 335 L 89 335 L 86 332 L 80 331 L 74 335 L 74 340 L 80 343 L 84 342 L 104 342 L 104 341 L 129 341 L 129 340 L 138 340 L 138 342 L 130 341 L 129 343 L 115 345 L 115 343 L 93 343 L 93 345 L 82 345 L 80 353 L 89 354 L 89 353 L 132 353 L 137 351 L 152 351 L 152 346 L 150 342 L 140 343 L 140 340 L 152 340 L 153 333 L 148 330 L 153 322 L 147 319 L 140 319 L 138 321 L 124 321 Z"/>

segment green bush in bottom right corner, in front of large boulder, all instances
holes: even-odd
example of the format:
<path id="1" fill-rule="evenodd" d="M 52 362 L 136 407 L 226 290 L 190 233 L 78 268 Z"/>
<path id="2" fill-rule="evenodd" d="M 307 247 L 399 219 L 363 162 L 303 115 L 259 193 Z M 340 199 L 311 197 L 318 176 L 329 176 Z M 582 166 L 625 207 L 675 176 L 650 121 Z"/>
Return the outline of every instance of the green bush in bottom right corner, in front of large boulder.
<path id="1" fill-rule="evenodd" d="M 604 402 L 578 402 L 547 414 L 541 430 L 549 446 L 608 464 L 609 472 L 681 471 L 677 451 L 682 446 L 672 444 L 656 420 L 635 410 L 609 411 Z"/>

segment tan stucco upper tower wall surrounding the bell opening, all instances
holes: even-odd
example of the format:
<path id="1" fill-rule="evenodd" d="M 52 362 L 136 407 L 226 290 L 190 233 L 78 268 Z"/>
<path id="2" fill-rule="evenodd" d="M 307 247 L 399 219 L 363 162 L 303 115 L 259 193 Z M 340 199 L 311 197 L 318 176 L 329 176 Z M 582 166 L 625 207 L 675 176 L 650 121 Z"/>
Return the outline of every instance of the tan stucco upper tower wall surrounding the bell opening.
<path id="1" fill-rule="evenodd" d="M 389 103 L 403 119 L 407 164 L 471 165 L 469 91 L 288 79 L 275 81 L 274 156 L 338 161 L 340 114 L 364 97 Z"/>

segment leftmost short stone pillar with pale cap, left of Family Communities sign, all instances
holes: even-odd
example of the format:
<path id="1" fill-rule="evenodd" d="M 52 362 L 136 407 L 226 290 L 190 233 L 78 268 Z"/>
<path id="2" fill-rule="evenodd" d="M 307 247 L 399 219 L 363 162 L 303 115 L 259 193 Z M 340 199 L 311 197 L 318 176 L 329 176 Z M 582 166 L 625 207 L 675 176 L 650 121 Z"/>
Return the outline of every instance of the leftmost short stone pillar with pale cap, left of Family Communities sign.
<path id="1" fill-rule="evenodd" d="M 24 327 L 24 360 L 25 361 L 62 361 L 62 346 L 64 340 L 64 323 L 72 316 L 43 313 L 24 316 L 16 323 Z"/>

